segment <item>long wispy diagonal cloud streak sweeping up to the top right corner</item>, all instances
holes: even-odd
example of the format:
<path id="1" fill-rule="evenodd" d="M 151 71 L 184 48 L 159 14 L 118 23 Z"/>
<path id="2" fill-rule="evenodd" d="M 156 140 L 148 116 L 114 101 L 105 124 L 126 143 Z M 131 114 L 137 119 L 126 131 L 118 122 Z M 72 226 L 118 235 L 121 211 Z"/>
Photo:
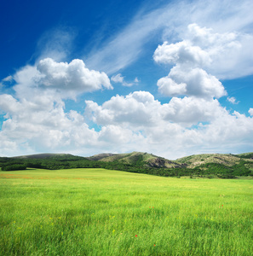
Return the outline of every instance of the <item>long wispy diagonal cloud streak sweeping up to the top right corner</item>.
<path id="1" fill-rule="evenodd" d="M 181 1 L 169 3 L 163 8 L 145 10 L 123 31 L 109 39 L 101 49 L 85 59 L 89 68 L 106 73 L 117 73 L 136 61 L 147 44 L 161 41 L 177 41 L 190 23 L 212 27 L 217 32 L 252 32 L 252 1 Z M 216 19 L 214 19 L 216 17 Z M 246 56 L 245 56 L 246 58 Z"/>

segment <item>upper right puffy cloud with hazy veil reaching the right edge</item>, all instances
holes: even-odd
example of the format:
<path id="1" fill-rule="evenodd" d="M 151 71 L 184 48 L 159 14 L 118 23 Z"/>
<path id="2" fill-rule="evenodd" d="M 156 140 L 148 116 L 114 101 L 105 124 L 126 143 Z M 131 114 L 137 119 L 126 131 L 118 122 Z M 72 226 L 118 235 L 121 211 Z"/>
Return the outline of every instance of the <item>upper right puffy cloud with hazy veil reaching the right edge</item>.
<path id="1" fill-rule="evenodd" d="M 158 63 L 175 64 L 183 70 L 198 67 L 218 79 L 233 79 L 253 73 L 252 41 L 250 34 L 217 33 L 190 24 L 181 42 L 158 45 L 153 59 Z"/>

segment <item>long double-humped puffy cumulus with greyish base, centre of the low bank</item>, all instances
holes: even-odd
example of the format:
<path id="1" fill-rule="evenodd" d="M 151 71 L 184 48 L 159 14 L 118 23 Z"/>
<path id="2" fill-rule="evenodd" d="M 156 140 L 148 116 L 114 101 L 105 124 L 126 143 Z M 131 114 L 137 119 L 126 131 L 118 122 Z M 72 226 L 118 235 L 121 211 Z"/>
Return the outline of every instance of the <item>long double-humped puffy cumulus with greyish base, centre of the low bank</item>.
<path id="1" fill-rule="evenodd" d="M 198 125 L 198 122 L 209 122 L 226 112 L 217 100 L 174 97 L 169 103 L 161 104 L 147 91 L 113 96 L 101 106 L 92 101 L 87 101 L 86 104 L 86 114 L 96 124 L 124 125 L 133 130 L 164 125 L 164 122 L 191 127 Z"/>

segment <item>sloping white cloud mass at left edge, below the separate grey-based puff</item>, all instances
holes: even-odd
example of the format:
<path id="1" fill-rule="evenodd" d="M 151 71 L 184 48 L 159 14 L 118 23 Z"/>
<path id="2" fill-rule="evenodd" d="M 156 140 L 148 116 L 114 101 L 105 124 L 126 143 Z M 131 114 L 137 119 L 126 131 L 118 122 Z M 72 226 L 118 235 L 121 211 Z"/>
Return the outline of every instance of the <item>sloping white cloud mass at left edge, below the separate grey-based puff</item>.
<path id="1" fill-rule="evenodd" d="M 17 100 L 10 95 L 0 96 L 0 109 L 5 113 L 0 137 L 6 152 L 28 154 L 39 150 L 64 150 L 78 145 L 91 145 L 97 137 L 86 125 L 83 115 L 64 109 L 64 103 L 51 94 L 35 95 L 32 99 Z M 1 154 L 6 155 L 4 148 Z M 14 154 L 14 153 L 13 153 Z M 16 153 L 17 154 L 17 153 Z"/>

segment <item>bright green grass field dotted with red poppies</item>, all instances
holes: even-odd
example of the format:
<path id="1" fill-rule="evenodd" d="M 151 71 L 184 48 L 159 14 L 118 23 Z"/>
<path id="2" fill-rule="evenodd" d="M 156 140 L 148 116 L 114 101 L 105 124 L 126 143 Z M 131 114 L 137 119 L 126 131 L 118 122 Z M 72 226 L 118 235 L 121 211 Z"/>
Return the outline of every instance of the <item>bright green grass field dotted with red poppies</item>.
<path id="1" fill-rule="evenodd" d="M 253 179 L 0 172 L 0 255 L 252 255 Z"/>

